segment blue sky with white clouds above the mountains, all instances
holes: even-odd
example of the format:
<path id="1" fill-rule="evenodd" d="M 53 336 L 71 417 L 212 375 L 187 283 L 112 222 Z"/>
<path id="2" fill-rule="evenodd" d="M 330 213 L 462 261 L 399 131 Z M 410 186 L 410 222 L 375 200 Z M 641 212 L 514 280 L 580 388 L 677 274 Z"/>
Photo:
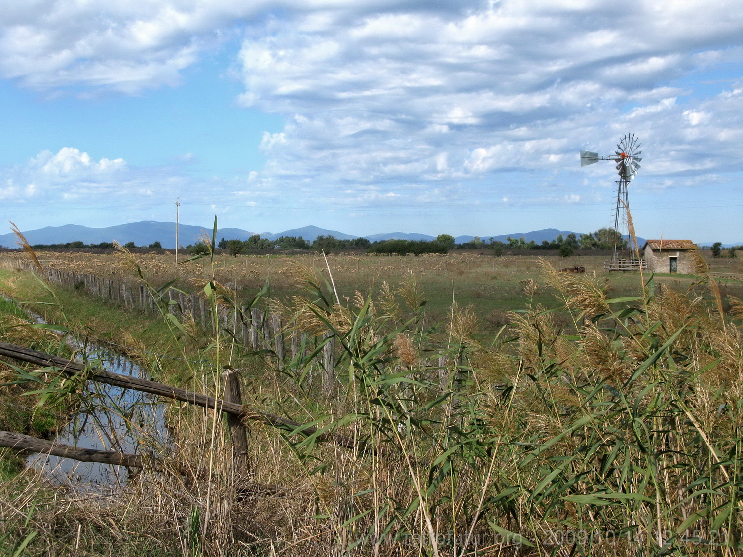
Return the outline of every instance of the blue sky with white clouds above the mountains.
<path id="1" fill-rule="evenodd" d="M 743 243 L 739 0 L 25 0 L 0 234 L 180 221 Z"/>

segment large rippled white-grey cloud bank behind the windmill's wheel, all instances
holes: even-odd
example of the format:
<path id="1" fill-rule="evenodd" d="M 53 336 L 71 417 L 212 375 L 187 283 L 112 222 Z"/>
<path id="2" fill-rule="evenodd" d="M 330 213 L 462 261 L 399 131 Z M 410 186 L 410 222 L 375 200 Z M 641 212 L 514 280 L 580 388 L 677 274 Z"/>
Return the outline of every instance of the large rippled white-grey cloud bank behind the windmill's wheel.
<path id="1" fill-rule="evenodd" d="M 672 8 L 679 18 L 686 10 Z M 410 184 L 421 179 L 557 172 L 586 143 L 611 152 L 626 131 L 646 144 L 684 144 L 702 123 L 690 116 L 702 114 L 701 102 L 669 84 L 735 59 L 743 36 L 737 4 L 692 11 L 676 21 L 658 19 L 655 4 L 617 11 L 609 2 L 502 1 L 469 13 L 272 22 L 240 53 L 244 98 L 288 118 L 280 141 L 273 134 L 262 143 L 269 163 L 260 177 L 267 189 L 296 187 L 302 176 L 325 191 L 377 183 L 412 198 Z M 741 126 L 733 117 L 730 128 Z M 658 149 L 643 172 L 678 169 L 678 157 Z M 716 166 L 714 157 L 693 158 L 681 167 Z"/>

